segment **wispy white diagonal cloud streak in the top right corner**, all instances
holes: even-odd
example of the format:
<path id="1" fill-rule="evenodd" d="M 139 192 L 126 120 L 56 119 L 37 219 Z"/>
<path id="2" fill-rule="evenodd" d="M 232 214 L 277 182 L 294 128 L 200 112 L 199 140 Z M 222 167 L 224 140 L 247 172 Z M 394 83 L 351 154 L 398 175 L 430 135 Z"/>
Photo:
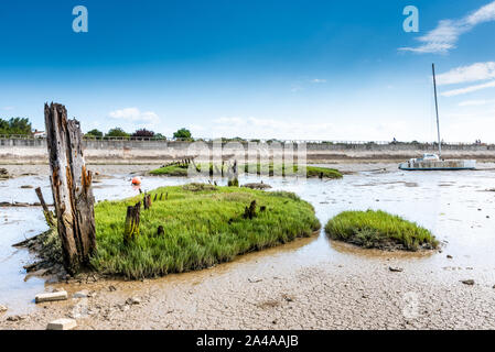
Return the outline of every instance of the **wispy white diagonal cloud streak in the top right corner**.
<path id="1" fill-rule="evenodd" d="M 416 47 L 400 47 L 399 51 L 424 53 L 449 53 L 455 48 L 459 37 L 473 30 L 476 25 L 495 21 L 495 1 L 463 16 L 460 20 L 442 20 L 437 28 L 418 37 L 421 43 Z"/>

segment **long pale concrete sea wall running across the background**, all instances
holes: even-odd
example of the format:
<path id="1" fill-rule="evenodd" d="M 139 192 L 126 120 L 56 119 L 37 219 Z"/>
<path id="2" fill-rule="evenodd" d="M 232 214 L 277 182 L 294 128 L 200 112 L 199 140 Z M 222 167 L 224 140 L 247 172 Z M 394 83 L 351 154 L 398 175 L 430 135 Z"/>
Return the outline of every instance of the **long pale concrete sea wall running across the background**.
<path id="1" fill-rule="evenodd" d="M 213 142 L 201 142 L 212 150 Z M 303 143 L 303 142 L 298 142 Z M 298 147 L 303 151 L 305 145 L 306 160 L 310 163 L 333 161 L 406 161 L 418 157 L 427 152 L 435 152 L 437 146 L 426 143 L 353 143 L 353 142 L 304 142 L 304 144 L 282 143 L 275 147 L 280 153 L 284 147 Z M 225 154 L 235 147 L 248 150 L 247 143 L 230 143 L 226 145 Z M 138 141 L 138 140 L 87 140 L 85 141 L 85 157 L 93 164 L 161 164 L 174 158 L 196 155 L 197 143 L 182 141 Z M 270 148 L 270 146 L 269 146 Z M 475 158 L 478 161 L 495 161 L 495 145 L 477 144 L 444 144 L 445 158 Z M 47 163 L 46 140 L 44 139 L 7 139 L 0 138 L 0 164 L 45 164 Z"/>

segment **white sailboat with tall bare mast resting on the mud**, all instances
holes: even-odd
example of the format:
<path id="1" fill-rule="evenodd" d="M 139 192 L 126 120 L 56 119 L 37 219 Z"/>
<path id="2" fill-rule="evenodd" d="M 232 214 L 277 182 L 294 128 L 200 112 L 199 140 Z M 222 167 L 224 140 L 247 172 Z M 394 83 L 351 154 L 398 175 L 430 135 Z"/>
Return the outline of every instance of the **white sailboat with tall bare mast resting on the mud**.
<path id="1" fill-rule="evenodd" d="M 476 161 L 451 160 L 442 158 L 442 141 L 440 140 L 440 119 L 439 119 L 439 102 L 437 97 L 437 78 L 433 70 L 433 88 L 434 88 L 434 107 L 437 111 L 437 134 L 439 139 L 439 154 L 428 153 L 420 158 L 411 158 L 409 162 L 399 164 L 399 168 L 403 170 L 456 170 L 456 169 L 474 169 L 476 168 Z"/>

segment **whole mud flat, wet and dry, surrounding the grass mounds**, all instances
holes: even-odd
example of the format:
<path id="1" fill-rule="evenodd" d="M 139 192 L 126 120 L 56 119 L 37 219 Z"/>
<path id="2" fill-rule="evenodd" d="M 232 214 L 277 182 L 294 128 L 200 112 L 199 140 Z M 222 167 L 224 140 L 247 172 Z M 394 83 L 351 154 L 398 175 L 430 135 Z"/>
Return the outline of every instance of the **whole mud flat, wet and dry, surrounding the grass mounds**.
<path id="1" fill-rule="evenodd" d="M 332 164 L 349 174 L 329 182 L 262 179 L 273 190 L 295 191 L 310 201 L 321 223 L 353 209 L 397 213 L 431 230 L 441 252 L 363 250 L 322 232 L 213 268 L 143 282 L 94 282 L 90 275 L 80 282 L 24 282 L 21 267 L 33 258 L 7 244 L 36 234 L 44 223 L 39 209 L 7 209 L 7 221 L 0 218 L 0 305 L 8 311 L 0 312 L 0 328 L 45 329 L 49 321 L 73 317 L 77 329 L 495 329 L 495 195 L 486 191 L 495 187 L 495 173 L 484 166 L 405 173 L 395 164 L 347 169 Z M 132 196 L 130 172 L 108 172 L 112 177 L 97 184 L 97 199 Z M 18 186 L 15 197 L 30 201 L 34 191 L 20 186 L 47 185 L 45 174 L 37 177 L 1 182 L 0 201 Z M 241 177 L 240 184 L 259 180 Z M 143 177 L 149 189 L 185 182 Z M 474 285 L 462 283 L 470 279 Z M 35 294 L 57 288 L 69 299 L 32 301 Z M 90 297 L 72 298 L 82 290 Z M 12 316 L 20 320 L 8 320 Z"/>

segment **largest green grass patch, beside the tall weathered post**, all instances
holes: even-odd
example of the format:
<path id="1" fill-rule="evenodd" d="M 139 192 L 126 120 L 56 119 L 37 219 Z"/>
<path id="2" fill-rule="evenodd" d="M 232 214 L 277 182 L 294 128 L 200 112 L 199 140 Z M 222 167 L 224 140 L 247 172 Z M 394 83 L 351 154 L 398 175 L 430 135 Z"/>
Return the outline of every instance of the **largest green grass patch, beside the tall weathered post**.
<path id="1" fill-rule="evenodd" d="M 290 193 L 195 184 L 150 194 L 152 199 L 155 194 L 168 194 L 168 199 L 153 201 L 149 210 L 141 209 L 140 234 L 127 245 L 126 210 L 140 198 L 103 201 L 95 207 L 98 252 L 92 265 L 96 271 L 142 278 L 201 270 L 310 237 L 320 228 L 313 207 Z M 252 200 L 257 216 L 244 219 L 245 208 Z M 159 226 L 164 229 L 163 235 L 157 235 Z"/>

